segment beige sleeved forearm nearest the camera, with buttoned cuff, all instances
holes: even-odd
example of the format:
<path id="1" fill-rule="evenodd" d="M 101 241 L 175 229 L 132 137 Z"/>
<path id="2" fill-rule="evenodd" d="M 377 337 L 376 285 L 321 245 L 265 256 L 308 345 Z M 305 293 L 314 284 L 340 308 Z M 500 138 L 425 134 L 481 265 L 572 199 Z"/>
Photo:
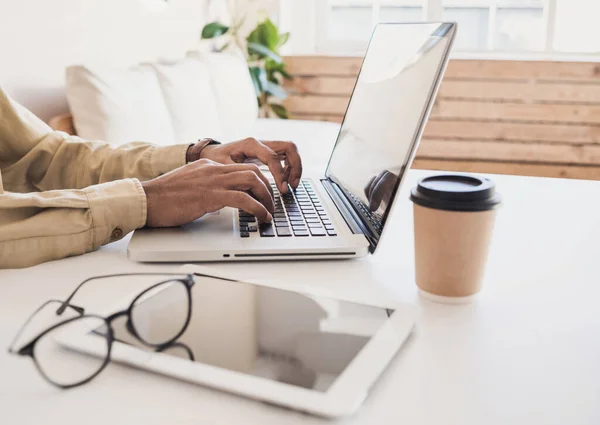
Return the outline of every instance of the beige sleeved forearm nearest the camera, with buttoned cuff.
<path id="1" fill-rule="evenodd" d="M 90 252 L 145 223 L 146 196 L 135 179 L 84 190 L 0 194 L 0 268 Z"/>

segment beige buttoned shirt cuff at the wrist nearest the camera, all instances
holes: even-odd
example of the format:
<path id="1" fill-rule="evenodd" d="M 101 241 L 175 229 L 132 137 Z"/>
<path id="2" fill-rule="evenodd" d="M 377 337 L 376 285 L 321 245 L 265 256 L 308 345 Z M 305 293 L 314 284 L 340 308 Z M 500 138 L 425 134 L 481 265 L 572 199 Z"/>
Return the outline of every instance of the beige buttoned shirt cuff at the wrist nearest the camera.
<path id="1" fill-rule="evenodd" d="M 146 225 L 146 193 L 139 180 L 118 180 L 83 191 L 92 215 L 94 249 Z"/>

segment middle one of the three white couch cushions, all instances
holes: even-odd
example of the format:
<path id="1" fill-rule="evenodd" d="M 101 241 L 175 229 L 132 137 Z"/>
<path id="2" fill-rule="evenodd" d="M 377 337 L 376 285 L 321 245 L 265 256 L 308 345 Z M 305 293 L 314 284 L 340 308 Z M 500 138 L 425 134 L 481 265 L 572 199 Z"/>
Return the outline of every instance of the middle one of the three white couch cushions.
<path id="1" fill-rule="evenodd" d="M 208 65 L 195 58 L 172 64 L 152 64 L 165 105 L 171 115 L 177 143 L 223 137 L 217 100 Z"/>

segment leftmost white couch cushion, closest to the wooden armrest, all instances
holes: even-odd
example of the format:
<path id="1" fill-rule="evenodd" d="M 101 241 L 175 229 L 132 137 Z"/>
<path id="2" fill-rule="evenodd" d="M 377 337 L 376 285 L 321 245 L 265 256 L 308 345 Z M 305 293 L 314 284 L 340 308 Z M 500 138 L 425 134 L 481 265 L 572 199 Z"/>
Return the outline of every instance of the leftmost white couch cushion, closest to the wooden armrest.
<path id="1" fill-rule="evenodd" d="M 67 68 L 67 100 L 77 134 L 111 144 L 176 140 L 154 70 L 149 66 Z"/>

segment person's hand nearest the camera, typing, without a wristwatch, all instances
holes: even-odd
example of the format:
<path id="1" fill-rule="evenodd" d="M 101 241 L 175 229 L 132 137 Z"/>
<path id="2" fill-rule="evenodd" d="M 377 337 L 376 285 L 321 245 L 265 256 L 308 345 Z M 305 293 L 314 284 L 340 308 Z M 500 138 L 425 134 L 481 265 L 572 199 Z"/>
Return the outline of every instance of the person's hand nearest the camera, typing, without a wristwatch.
<path id="1" fill-rule="evenodd" d="M 223 165 L 201 159 L 142 183 L 149 227 L 190 223 L 224 207 L 240 208 L 260 222 L 273 220 L 271 186 L 254 164 Z"/>

